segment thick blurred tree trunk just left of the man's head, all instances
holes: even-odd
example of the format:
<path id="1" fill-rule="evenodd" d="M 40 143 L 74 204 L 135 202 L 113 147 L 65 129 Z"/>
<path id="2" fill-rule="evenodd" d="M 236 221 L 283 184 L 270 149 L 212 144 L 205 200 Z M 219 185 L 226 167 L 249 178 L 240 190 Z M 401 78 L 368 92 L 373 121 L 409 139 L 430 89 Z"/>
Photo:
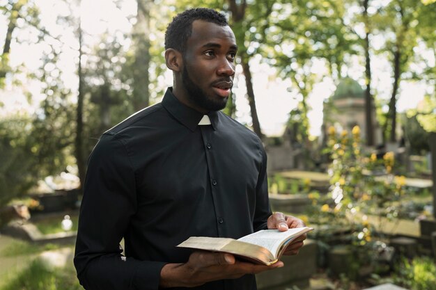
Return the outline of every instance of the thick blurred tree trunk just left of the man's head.
<path id="1" fill-rule="evenodd" d="M 137 0 L 137 23 L 133 27 L 133 107 L 139 111 L 150 105 L 150 5 L 153 0 Z"/>

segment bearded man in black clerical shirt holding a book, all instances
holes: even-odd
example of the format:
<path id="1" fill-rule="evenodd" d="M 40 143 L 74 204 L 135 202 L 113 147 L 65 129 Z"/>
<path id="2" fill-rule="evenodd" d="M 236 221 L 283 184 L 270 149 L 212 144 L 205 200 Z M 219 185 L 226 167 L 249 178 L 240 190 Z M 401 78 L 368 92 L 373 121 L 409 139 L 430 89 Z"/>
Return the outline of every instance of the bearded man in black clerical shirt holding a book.
<path id="1" fill-rule="evenodd" d="M 253 274 L 281 261 L 260 266 L 176 248 L 189 236 L 237 239 L 304 225 L 271 213 L 262 143 L 219 111 L 233 86 L 235 35 L 223 15 L 196 8 L 169 24 L 165 47 L 173 88 L 105 132 L 90 156 L 77 275 L 85 289 L 256 289 Z"/>

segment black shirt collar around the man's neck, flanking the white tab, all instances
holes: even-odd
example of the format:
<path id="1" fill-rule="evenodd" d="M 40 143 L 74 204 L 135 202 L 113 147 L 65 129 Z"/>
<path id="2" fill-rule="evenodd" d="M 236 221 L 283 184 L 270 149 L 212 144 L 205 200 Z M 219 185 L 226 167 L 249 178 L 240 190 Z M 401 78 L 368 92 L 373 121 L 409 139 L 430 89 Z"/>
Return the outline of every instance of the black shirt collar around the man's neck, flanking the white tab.
<path id="1" fill-rule="evenodd" d="M 203 113 L 200 113 L 193 108 L 189 108 L 185 104 L 182 104 L 176 96 L 173 95 L 173 88 L 168 88 L 165 92 L 164 99 L 162 99 L 162 105 L 178 122 L 182 123 L 191 131 L 195 131 L 198 123 L 203 118 Z M 218 112 L 209 112 L 208 117 L 214 130 L 217 129 Z"/>

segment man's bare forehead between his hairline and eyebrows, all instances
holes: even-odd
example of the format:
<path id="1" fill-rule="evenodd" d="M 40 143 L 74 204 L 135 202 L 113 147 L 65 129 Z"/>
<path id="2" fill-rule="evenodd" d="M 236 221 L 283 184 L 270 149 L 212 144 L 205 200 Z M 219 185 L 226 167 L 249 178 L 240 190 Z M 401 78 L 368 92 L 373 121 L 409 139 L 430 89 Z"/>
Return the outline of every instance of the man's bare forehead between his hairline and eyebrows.
<path id="1" fill-rule="evenodd" d="M 195 20 L 192 22 L 192 33 L 187 40 L 187 48 L 195 49 L 208 43 L 216 43 L 222 47 L 236 47 L 235 34 L 229 26 Z"/>

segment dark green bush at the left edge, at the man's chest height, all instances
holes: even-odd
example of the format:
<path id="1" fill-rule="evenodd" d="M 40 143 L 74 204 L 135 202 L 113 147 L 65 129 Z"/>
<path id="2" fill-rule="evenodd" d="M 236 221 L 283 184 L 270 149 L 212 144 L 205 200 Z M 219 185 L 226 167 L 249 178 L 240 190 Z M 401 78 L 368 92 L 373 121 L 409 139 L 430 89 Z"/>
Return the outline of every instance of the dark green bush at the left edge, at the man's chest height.
<path id="1" fill-rule="evenodd" d="M 52 131 L 53 127 L 56 122 L 42 122 L 38 116 L 0 120 L 0 207 L 23 196 L 38 180 L 65 168 L 63 140 L 56 139 L 54 132 L 66 131 Z"/>

